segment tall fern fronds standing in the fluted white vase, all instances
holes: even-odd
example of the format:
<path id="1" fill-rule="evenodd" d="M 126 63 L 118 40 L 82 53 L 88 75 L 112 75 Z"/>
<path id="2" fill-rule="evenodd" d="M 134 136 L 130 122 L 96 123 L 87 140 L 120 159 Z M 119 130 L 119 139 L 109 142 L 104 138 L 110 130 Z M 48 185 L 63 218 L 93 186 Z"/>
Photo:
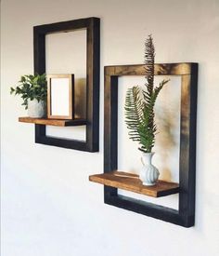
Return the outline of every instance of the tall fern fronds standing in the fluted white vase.
<path id="1" fill-rule="evenodd" d="M 154 87 L 154 59 L 155 48 L 151 35 L 145 42 L 145 88 L 138 86 L 129 88 L 125 97 L 125 123 L 129 131 L 129 138 L 138 141 L 140 151 L 150 153 L 157 133 L 154 121 L 154 106 L 163 86 L 169 80 L 162 80 L 158 87 Z"/>

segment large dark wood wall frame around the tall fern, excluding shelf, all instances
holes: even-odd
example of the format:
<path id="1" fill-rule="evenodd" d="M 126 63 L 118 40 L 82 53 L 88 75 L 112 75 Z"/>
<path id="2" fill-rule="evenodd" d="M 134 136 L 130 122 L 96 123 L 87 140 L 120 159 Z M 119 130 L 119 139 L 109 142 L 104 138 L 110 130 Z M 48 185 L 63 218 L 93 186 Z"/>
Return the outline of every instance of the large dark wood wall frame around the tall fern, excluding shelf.
<path id="1" fill-rule="evenodd" d="M 105 67 L 104 172 L 117 169 L 118 77 L 147 75 L 145 65 Z M 181 76 L 179 159 L 179 209 L 170 209 L 118 195 L 117 188 L 104 186 L 106 204 L 129 209 L 165 222 L 190 227 L 195 222 L 196 115 L 198 63 L 155 64 L 155 75 Z"/>

